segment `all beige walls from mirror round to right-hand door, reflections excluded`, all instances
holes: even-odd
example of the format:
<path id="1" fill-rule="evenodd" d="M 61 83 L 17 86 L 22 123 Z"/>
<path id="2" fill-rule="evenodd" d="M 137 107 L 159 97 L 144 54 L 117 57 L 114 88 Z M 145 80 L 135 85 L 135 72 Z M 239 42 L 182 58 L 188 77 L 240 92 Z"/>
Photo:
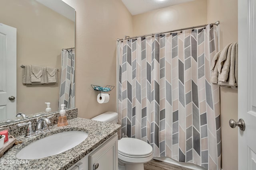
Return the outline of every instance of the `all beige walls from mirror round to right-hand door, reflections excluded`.
<path id="1" fill-rule="evenodd" d="M 76 107 L 78 116 L 92 118 L 116 110 L 116 92 L 108 104 L 96 102 L 90 84 L 116 85 L 116 38 L 143 35 L 220 21 L 220 49 L 237 41 L 236 0 L 194 0 L 186 4 L 131 16 L 120 0 L 64 0 L 76 9 Z M 102 71 L 102 67 L 105 69 Z M 220 88 L 222 168 L 237 169 L 237 90 Z"/>

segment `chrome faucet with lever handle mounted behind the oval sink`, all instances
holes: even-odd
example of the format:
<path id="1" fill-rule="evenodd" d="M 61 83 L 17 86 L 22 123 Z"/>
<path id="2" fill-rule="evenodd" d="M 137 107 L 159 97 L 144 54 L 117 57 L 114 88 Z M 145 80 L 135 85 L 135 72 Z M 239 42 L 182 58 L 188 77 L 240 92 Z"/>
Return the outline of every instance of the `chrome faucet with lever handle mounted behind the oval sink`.
<path id="1" fill-rule="evenodd" d="M 34 135 L 50 131 L 48 125 L 51 123 L 51 121 L 50 121 L 51 117 L 53 117 L 53 115 L 49 116 L 49 117 L 41 117 L 37 121 L 36 131 L 35 132 L 32 129 L 32 125 L 31 125 L 30 121 L 28 123 L 19 123 L 17 126 L 21 127 L 21 126 L 24 126 L 24 125 L 28 125 L 28 127 L 27 127 L 27 134 L 25 135 L 25 137 L 32 137 Z"/>

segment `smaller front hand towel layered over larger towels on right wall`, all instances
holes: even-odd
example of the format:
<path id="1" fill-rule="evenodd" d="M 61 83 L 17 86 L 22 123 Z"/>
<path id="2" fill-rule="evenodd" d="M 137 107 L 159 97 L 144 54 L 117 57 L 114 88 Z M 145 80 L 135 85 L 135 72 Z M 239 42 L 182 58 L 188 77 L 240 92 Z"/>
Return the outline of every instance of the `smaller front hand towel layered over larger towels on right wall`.
<path id="1" fill-rule="evenodd" d="M 236 55 L 236 43 L 232 43 L 229 47 L 228 47 L 228 53 L 227 53 L 227 56 L 226 56 L 226 60 L 223 62 L 223 65 L 222 65 L 222 70 L 221 72 L 219 72 L 219 76 L 218 76 L 218 81 L 220 82 L 227 82 L 228 80 L 228 76 L 229 76 L 229 72 L 232 70 L 230 70 L 230 68 L 234 68 L 234 63 L 232 63 L 232 65 L 230 65 L 230 61 L 231 61 L 231 58 L 232 60 L 235 59 L 235 55 Z M 235 60 L 234 60 L 235 61 Z M 233 72 L 234 73 L 234 72 Z"/>

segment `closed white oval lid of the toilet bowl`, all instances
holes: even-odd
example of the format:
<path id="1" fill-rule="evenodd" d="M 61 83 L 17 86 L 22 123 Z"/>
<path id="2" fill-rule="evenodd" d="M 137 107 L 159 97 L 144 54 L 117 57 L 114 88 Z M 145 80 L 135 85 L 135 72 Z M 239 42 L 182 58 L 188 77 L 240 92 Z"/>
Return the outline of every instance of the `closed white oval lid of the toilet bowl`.
<path id="1" fill-rule="evenodd" d="M 152 147 L 140 139 L 123 137 L 118 140 L 118 152 L 124 155 L 146 156 L 151 154 L 152 151 Z"/>

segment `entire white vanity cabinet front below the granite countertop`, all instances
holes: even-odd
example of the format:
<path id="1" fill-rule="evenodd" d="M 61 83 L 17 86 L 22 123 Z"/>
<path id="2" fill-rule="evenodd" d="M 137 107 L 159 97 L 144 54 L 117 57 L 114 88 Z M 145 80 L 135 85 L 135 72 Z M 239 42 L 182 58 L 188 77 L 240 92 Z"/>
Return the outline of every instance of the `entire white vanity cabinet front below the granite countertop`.
<path id="1" fill-rule="evenodd" d="M 68 170 L 118 170 L 117 133 Z"/>

